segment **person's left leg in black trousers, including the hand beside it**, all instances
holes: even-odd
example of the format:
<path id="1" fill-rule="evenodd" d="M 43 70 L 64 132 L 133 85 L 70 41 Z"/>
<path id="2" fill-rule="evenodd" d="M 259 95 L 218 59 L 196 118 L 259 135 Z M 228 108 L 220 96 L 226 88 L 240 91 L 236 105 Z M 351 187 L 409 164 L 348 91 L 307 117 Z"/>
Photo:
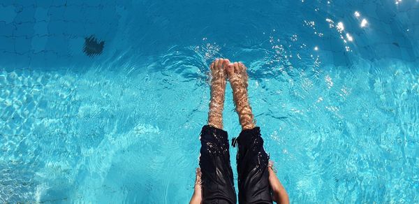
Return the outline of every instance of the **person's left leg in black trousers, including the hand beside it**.
<path id="1" fill-rule="evenodd" d="M 223 131 L 223 105 L 228 59 L 216 59 L 211 68 L 211 101 L 208 124 L 200 133 L 200 170 L 197 169 L 192 204 L 237 203 L 230 166 L 228 133 Z"/>

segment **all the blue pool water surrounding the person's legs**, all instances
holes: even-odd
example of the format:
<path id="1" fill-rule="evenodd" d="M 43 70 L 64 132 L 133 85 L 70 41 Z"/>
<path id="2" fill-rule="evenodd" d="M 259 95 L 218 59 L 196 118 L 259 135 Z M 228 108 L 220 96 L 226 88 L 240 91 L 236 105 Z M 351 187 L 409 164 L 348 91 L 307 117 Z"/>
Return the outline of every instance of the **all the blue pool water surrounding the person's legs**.
<path id="1" fill-rule="evenodd" d="M 0 203 L 189 202 L 216 57 L 292 203 L 419 203 L 417 0 L 2 0 Z"/>

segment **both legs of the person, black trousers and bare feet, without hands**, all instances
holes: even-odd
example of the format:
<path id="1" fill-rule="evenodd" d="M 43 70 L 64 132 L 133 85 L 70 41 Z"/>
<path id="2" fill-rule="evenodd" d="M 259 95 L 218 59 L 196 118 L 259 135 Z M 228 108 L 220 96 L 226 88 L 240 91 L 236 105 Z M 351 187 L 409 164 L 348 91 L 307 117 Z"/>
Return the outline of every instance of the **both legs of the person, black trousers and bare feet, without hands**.
<path id="1" fill-rule="evenodd" d="M 226 66 L 228 65 L 228 67 Z M 200 180 L 202 203 L 236 203 L 233 170 L 230 167 L 228 133 L 222 130 L 225 75 L 233 88 L 233 99 L 239 115 L 242 133 L 233 139 L 237 143 L 237 173 L 239 203 L 272 203 L 267 170 L 268 156 L 263 150 L 260 129 L 253 122 L 247 99 L 247 73 L 243 64 L 229 64 L 216 59 L 211 64 L 212 85 L 208 125 L 200 134 Z"/>

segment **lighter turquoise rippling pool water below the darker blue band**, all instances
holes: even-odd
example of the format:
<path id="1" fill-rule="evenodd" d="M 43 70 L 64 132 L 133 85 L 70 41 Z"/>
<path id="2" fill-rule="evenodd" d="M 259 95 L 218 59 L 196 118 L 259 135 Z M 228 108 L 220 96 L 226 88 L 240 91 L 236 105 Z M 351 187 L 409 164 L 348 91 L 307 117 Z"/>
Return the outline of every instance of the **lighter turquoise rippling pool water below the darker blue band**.
<path id="1" fill-rule="evenodd" d="M 209 100 L 206 68 L 195 64 L 131 76 L 3 71 L 3 201 L 186 201 Z M 258 70 L 249 68 L 265 148 L 292 200 L 413 199 L 418 74 L 386 67 L 284 68 L 272 79 L 254 79 Z M 234 135 L 231 97 L 224 115 Z"/>

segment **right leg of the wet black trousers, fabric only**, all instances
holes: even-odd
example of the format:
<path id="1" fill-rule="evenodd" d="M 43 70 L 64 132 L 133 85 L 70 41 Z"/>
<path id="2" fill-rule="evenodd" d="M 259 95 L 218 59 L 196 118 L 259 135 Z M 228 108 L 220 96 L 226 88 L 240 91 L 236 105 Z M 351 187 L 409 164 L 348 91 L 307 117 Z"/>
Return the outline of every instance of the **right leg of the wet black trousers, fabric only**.
<path id="1" fill-rule="evenodd" d="M 269 156 L 263 149 L 260 128 L 243 130 L 233 144 L 237 143 L 237 173 L 239 203 L 272 203 L 267 163 Z"/>

